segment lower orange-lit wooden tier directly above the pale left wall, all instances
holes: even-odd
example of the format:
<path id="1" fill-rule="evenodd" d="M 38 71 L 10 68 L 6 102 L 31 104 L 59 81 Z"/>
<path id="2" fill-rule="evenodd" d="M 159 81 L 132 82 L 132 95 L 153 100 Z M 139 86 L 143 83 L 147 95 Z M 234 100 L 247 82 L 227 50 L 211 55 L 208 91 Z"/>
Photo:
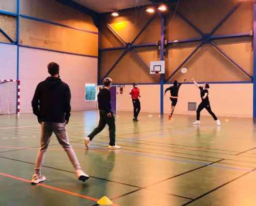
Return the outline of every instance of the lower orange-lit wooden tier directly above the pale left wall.
<path id="1" fill-rule="evenodd" d="M 20 33 L 23 45 L 83 55 L 98 55 L 98 36 L 93 33 L 24 18 L 21 18 Z"/>

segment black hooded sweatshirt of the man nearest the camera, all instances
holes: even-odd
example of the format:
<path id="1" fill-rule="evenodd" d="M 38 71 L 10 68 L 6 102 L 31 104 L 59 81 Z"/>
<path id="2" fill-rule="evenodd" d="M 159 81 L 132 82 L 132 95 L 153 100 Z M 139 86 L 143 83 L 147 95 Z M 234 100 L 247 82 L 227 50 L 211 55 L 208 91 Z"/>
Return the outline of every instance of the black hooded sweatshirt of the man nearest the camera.
<path id="1" fill-rule="evenodd" d="M 70 99 L 68 84 L 58 77 L 48 77 L 37 85 L 32 100 L 33 113 L 41 122 L 64 123 L 69 121 Z"/>

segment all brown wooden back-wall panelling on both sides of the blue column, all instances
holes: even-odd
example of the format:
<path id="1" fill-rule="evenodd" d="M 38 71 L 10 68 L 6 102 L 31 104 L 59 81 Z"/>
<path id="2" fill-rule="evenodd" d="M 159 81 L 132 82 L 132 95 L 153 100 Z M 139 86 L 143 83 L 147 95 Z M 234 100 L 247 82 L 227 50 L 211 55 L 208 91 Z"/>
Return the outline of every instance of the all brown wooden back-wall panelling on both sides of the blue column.
<path id="1" fill-rule="evenodd" d="M 203 33 L 209 33 L 238 2 L 238 0 L 184 0 L 179 2 L 177 11 Z M 175 9 L 176 5 L 177 3 L 173 3 L 170 6 Z M 124 43 L 113 34 L 106 23 L 109 23 L 126 42 L 131 42 L 146 22 L 154 15 L 144 10 L 145 8 L 137 10 L 137 21 L 138 19 L 139 21 L 135 25 L 135 10 L 119 11 L 119 16 L 116 18 L 111 15 L 104 16 L 104 22 L 101 25 L 100 48 L 124 46 Z M 166 15 L 165 37 L 168 41 L 201 38 L 201 35 L 180 18 L 179 15 L 175 14 L 173 18 L 173 14 L 174 12 L 169 9 Z M 139 18 L 140 15 L 141 18 Z M 253 3 L 252 1 L 243 1 L 213 33 L 213 36 L 245 33 L 250 32 L 252 29 Z M 160 32 L 160 18 L 156 15 L 134 44 L 154 43 L 160 40 Z M 253 38 L 251 36 L 213 40 L 225 54 L 231 57 L 250 75 L 253 75 L 252 41 Z M 200 43 L 201 41 L 168 44 L 165 47 L 165 78 L 168 78 Z M 124 50 L 118 49 L 100 53 L 101 78 L 109 71 Z M 160 60 L 157 46 L 135 48 L 134 50 L 138 51 L 138 54 L 147 65 L 149 65 L 150 61 Z M 178 71 L 170 79 L 170 82 L 174 79 L 182 80 L 185 77 L 189 81 L 191 81 L 191 77 L 194 77 L 199 82 L 251 80 L 209 43 L 203 44 L 182 67 L 187 67 L 188 73 L 183 75 Z M 149 75 L 148 69 L 144 64 L 140 63 L 132 52 L 127 52 L 109 76 L 114 77 L 113 81 L 116 83 L 132 83 L 134 79 L 139 83 L 159 82 L 153 75 Z"/>

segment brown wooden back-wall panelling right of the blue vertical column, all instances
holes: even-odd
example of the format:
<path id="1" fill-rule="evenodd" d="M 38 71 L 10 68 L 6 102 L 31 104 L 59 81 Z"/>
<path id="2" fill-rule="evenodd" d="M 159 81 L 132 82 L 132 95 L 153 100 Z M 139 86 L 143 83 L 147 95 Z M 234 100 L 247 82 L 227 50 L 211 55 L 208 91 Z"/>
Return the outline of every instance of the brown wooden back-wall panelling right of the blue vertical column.
<path id="1" fill-rule="evenodd" d="M 181 1 L 177 11 L 189 20 L 203 33 L 210 33 L 218 23 L 238 4 L 237 0 L 198 0 Z M 176 4 L 172 7 L 175 8 Z M 173 16 L 170 12 L 167 26 Z M 184 24 L 186 25 L 184 27 Z M 178 15 L 174 16 L 172 24 L 166 29 L 168 40 L 182 40 L 200 37 Z M 253 3 L 243 3 L 229 16 L 229 18 L 213 33 L 213 36 L 231 35 L 250 32 L 253 29 Z M 253 38 L 237 37 L 213 40 L 225 54 L 231 57 L 247 73 L 253 75 Z M 193 52 L 199 42 L 169 44 L 167 46 L 166 77 L 169 77 L 176 68 Z M 182 80 L 185 77 L 194 77 L 199 82 L 212 81 L 250 81 L 239 68 L 222 55 L 212 44 L 203 44 L 197 52 L 182 66 L 188 68 L 186 74 L 179 71 L 170 79 L 170 82 Z"/>

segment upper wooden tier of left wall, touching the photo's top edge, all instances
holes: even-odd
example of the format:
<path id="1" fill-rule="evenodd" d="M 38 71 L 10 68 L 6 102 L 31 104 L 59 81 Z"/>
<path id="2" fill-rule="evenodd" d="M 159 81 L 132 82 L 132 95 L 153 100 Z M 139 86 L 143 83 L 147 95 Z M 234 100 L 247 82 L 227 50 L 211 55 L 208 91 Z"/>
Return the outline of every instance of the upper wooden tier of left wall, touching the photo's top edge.
<path id="1" fill-rule="evenodd" d="M 54 0 L 21 0 L 21 14 L 59 24 L 98 31 L 91 16 Z"/>

